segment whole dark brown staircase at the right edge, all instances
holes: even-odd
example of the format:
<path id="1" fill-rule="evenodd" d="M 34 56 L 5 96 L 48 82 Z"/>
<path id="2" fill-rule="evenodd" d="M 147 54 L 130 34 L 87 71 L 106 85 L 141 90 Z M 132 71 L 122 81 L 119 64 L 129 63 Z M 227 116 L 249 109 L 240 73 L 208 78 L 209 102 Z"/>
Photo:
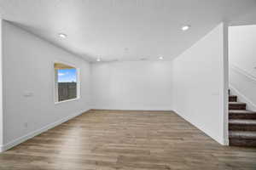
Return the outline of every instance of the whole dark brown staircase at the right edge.
<path id="1" fill-rule="evenodd" d="M 256 147 L 256 112 L 247 111 L 246 107 L 245 103 L 237 102 L 237 96 L 229 96 L 231 146 Z"/>

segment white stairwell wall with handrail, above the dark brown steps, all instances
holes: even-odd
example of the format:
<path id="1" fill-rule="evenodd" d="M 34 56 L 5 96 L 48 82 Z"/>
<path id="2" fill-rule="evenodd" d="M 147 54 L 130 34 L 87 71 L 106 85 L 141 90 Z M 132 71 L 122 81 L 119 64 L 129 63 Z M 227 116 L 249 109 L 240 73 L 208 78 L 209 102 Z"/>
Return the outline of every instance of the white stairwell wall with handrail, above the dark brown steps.
<path id="1" fill-rule="evenodd" d="M 256 111 L 256 26 L 230 26 L 230 88 Z"/>

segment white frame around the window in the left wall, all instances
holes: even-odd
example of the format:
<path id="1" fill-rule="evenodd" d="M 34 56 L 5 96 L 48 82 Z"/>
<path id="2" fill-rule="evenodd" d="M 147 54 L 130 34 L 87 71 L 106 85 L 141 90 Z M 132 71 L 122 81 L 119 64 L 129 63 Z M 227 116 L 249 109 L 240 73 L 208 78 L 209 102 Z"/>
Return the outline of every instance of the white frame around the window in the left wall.
<path id="1" fill-rule="evenodd" d="M 55 96 L 55 93 L 58 93 L 58 91 L 56 92 L 56 89 L 55 89 L 55 63 L 61 63 L 61 64 L 64 64 L 64 65 L 70 65 L 72 67 L 74 67 L 77 71 L 77 75 L 76 75 L 76 78 L 77 78 L 77 97 L 75 99 L 66 99 L 66 100 L 62 100 L 62 101 L 58 101 L 59 98 L 56 99 L 56 96 Z M 69 62 L 66 62 L 66 61 L 61 61 L 61 60 L 55 60 L 53 63 L 53 91 L 54 91 L 54 103 L 55 105 L 58 105 L 58 104 L 61 104 L 61 103 L 66 103 L 66 102 L 70 102 L 70 101 L 75 101 L 75 100 L 79 100 L 80 99 L 80 69 L 77 65 L 74 65 L 74 64 L 71 64 Z M 58 89 L 57 89 L 58 90 Z M 58 94 L 57 94 L 58 95 Z"/>

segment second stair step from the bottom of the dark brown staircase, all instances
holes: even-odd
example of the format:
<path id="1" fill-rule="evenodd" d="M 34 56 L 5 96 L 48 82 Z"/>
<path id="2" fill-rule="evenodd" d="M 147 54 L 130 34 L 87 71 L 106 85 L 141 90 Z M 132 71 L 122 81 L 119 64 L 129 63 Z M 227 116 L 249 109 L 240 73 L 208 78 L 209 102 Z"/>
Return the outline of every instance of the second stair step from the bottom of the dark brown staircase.
<path id="1" fill-rule="evenodd" d="M 256 132 L 256 120 L 230 119 L 229 130 Z"/>

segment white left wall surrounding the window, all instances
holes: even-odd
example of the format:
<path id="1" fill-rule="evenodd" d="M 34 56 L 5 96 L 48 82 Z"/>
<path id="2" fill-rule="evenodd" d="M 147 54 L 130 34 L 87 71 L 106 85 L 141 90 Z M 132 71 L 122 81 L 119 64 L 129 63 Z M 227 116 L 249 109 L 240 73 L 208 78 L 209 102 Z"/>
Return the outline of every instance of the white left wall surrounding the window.
<path id="1" fill-rule="evenodd" d="M 80 99 L 55 105 L 55 60 L 79 67 Z M 3 21 L 2 149 L 88 109 L 90 64 Z"/>

